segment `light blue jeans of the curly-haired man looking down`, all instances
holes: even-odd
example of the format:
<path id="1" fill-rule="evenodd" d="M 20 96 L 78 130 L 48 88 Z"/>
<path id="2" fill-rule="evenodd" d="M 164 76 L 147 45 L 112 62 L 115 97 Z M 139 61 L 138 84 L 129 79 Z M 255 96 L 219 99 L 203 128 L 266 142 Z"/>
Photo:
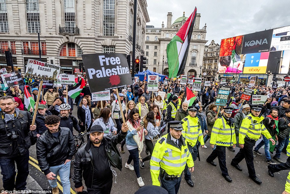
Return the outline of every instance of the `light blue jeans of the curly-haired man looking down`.
<path id="1" fill-rule="evenodd" d="M 49 170 L 56 175 L 55 178 L 59 174 L 64 194 L 71 193 L 71 183 L 69 181 L 70 169 L 71 169 L 71 162 L 67 162 L 66 164 L 62 164 L 62 165 L 58 165 L 58 166 L 49 167 Z M 48 182 L 52 188 L 57 187 L 56 180 L 57 179 L 48 180 Z"/>

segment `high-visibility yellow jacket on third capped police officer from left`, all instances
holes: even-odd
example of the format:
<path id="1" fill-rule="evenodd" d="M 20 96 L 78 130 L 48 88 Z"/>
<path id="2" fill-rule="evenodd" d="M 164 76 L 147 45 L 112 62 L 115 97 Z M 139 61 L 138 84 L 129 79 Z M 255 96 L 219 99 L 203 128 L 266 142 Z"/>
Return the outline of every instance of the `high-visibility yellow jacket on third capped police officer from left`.
<path id="1" fill-rule="evenodd" d="M 237 143 L 234 121 L 229 125 L 224 117 L 216 119 L 210 136 L 210 144 L 229 147 Z"/>

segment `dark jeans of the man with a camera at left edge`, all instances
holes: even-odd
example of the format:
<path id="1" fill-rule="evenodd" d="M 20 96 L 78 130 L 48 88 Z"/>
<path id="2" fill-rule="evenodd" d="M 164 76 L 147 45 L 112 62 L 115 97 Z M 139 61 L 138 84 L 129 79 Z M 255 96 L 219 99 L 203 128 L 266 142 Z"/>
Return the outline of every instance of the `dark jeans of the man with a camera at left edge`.
<path id="1" fill-rule="evenodd" d="M 20 156 L 0 159 L 1 174 L 3 175 L 4 190 L 12 191 L 26 189 L 26 179 L 29 174 L 28 169 L 29 151 Z M 15 162 L 17 165 L 17 177 L 15 180 Z"/>

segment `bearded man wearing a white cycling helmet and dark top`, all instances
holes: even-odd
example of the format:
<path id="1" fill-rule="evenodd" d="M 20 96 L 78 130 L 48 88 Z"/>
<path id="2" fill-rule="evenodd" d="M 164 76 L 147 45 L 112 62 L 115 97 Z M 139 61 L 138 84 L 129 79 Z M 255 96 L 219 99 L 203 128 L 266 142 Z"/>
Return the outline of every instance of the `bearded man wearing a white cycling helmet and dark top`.
<path id="1" fill-rule="evenodd" d="M 80 133 L 81 130 L 80 126 L 78 125 L 78 121 L 73 115 L 70 115 L 70 109 L 71 106 L 69 104 L 61 104 L 59 106 L 59 126 L 69 128 L 71 130 L 71 133 L 74 133 L 73 128 Z"/>

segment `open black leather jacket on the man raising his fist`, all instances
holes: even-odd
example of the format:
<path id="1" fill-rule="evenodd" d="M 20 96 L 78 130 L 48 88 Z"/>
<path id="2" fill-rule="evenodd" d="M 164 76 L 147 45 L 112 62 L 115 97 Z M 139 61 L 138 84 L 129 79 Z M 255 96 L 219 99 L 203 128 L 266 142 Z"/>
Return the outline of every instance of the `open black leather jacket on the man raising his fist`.
<path id="1" fill-rule="evenodd" d="M 126 137 L 127 132 L 122 131 L 114 137 L 105 136 L 102 141 L 104 141 L 105 150 L 107 158 L 110 164 L 118 168 L 120 171 L 122 169 L 122 158 L 116 145 L 121 143 L 121 141 Z M 72 181 L 75 183 L 75 188 L 83 185 L 82 177 L 84 177 L 85 185 L 92 188 L 93 185 L 93 163 L 98 161 L 93 161 L 92 151 L 90 150 L 90 141 L 77 150 L 77 154 L 74 158 L 74 175 Z M 99 164 L 102 165 L 102 164 Z"/>

